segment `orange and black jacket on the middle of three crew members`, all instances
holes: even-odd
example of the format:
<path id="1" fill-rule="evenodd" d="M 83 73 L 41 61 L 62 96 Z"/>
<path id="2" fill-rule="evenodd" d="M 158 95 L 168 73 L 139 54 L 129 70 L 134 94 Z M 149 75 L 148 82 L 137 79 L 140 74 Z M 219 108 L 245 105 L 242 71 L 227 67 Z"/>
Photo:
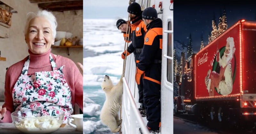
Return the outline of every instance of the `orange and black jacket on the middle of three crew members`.
<path id="1" fill-rule="evenodd" d="M 131 39 L 132 44 L 129 45 L 127 51 L 132 53 L 136 48 L 143 48 L 144 45 L 144 36 L 146 35 L 147 28 L 142 21 L 142 15 L 136 17 L 132 20 L 131 26 Z M 124 35 L 125 36 L 125 35 Z"/>

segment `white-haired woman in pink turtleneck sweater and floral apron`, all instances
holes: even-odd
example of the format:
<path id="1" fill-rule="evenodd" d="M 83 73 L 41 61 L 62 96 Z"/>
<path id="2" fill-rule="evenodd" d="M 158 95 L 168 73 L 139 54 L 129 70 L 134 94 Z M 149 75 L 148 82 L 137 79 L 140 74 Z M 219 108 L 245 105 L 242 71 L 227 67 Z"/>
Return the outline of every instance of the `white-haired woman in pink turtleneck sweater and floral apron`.
<path id="1" fill-rule="evenodd" d="M 17 110 L 58 108 L 65 112 L 63 123 L 67 123 L 75 103 L 83 109 L 83 76 L 73 61 L 51 53 L 57 27 L 54 15 L 38 11 L 27 16 L 29 56 L 6 72 L 1 122 L 11 123 L 11 113 Z"/>

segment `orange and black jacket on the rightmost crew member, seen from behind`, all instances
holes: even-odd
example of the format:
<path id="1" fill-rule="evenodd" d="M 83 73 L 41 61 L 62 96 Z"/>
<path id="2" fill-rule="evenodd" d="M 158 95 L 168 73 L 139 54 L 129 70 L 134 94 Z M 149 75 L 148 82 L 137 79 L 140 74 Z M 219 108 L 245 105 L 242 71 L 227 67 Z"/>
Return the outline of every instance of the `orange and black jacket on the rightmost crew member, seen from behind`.
<path id="1" fill-rule="evenodd" d="M 144 47 L 140 56 L 138 68 L 145 71 L 146 77 L 161 81 L 163 24 L 161 19 L 155 19 L 147 25 Z M 160 74 L 160 75 L 159 75 Z"/>

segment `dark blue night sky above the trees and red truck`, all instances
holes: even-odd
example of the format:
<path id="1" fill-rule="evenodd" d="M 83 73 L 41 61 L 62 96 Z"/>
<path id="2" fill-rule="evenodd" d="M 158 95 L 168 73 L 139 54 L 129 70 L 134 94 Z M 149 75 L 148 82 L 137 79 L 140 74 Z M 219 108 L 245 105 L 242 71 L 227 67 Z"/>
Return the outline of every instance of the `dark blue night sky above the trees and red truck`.
<path id="1" fill-rule="evenodd" d="M 194 53 L 200 50 L 203 34 L 204 46 L 208 44 L 208 35 L 212 32 L 212 20 L 218 28 L 220 15 L 225 8 L 228 28 L 240 19 L 256 20 L 256 1 L 253 0 L 176 0 L 174 5 L 174 41 L 188 44 L 192 36 Z"/>

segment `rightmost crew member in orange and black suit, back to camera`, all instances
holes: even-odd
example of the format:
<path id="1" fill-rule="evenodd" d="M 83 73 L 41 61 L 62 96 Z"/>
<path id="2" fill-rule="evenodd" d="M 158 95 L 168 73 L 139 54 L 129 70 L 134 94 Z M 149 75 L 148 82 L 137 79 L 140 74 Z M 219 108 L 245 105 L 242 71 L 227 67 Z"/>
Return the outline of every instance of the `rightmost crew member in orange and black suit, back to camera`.
<path id="1" fill-rule="evenodd" d="M 144 104 L 147 115 L 147 127 L 152 133 L 159 133 L 161 125 L 161 67 L 163 22 L 157 17 L 155 8 L 148 7 L 142 12 L 147 26 L 144 47 L 136 70 L 136 82 L 140 84 L 143 75 Z"/>

